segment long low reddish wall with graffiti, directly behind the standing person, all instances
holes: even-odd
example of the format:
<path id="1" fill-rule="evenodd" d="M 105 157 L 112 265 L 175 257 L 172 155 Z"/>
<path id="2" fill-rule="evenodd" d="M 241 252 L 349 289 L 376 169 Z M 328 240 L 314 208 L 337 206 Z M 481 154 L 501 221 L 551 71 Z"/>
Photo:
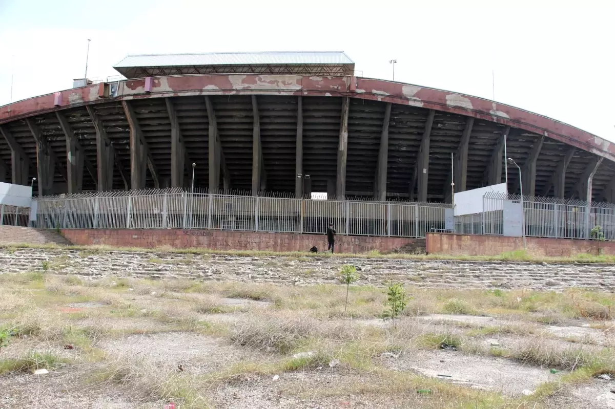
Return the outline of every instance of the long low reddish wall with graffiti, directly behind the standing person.
<path id="1" fill-rule="evenodd" d="M 295 233 L 229 232 L 224 230 L 62 230 L 73 244 L 106 244 L 118 247 L 175 248 L 206 247 L 215 250 L 308 251 L 325 249 L 325 235 Z M 361 253 L 392 251 L 411 244 L 415 239 L 394 237 L 337 236 L 335 251 Z"/>

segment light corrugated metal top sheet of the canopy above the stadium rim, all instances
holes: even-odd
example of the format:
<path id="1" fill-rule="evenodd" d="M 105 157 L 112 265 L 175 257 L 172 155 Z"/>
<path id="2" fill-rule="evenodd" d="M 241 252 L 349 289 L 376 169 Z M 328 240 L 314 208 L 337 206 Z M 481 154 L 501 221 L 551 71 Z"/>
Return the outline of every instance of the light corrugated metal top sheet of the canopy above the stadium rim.
<path id="1" fill-rule="evenodd" d="M 127 55 L 113 67 L 234 64 L 354 64 L 354 61 L 343 51 L 143 54 Z"/>

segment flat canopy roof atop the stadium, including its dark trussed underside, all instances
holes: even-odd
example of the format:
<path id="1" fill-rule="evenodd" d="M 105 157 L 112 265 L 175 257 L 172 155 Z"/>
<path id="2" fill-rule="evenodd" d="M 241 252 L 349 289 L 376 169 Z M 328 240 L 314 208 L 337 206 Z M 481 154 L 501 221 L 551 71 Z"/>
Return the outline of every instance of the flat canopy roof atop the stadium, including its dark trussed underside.
<path id="1" fill-rule="evenodd" d="M 127 78 L 185 74 L 317 74 L 354 73 L 354 61 L 343 51 L 243 52 L 127 55 L 113 68 Z"/>

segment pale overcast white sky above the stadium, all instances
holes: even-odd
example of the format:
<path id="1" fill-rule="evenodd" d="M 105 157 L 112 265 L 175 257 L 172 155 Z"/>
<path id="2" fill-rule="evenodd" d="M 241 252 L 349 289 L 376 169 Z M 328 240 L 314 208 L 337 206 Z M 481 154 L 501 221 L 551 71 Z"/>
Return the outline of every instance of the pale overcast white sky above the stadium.
<path id="1" fill-rule="evenodd" d="M 211 4 L 210 4 L 211 3 Z M 615 2 L 0 0 L 0 105 L 127 54 L 344 50 L 365 77 L 493 98 L 615 141 Z M 14 58 L 13 58 L 14 56 Z M 13 65 L 14 60 L 14 65 Z M 14 68 L 13 68 L 14 66 Z"/>

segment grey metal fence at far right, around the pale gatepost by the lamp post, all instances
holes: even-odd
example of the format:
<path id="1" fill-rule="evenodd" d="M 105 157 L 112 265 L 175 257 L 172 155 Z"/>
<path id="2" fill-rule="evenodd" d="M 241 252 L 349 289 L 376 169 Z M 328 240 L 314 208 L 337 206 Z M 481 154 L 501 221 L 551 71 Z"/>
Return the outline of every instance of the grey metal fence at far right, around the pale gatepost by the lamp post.
<path id="1" fill-rule="evenodd" d="M 521 203 L 520 195 L 487 193 L 483 212 L 455 216 L 456 233 L 503 235 L 504 202 Z M 524 197 L 526 236 L 615 240 L 615 204 L 582 200 Z"/>

